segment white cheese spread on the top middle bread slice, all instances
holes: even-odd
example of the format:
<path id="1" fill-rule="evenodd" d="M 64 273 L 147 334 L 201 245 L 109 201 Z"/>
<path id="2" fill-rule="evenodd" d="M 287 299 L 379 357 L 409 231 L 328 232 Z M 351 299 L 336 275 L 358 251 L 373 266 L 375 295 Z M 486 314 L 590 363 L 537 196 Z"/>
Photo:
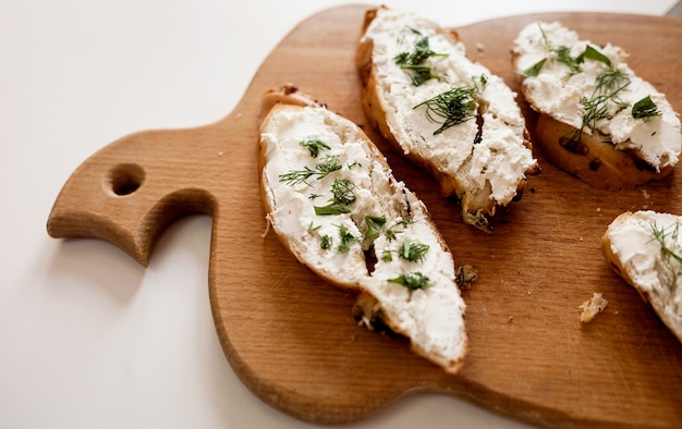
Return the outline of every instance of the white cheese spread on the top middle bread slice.
<path id="1" fill-rule="evenodd" d="M 413 32 L 417 30 L 419 34 Z M 415 86 L 410 71 L 395 63 L 395 57 L 412 52 L 418 37 L 428 38 L 429 57 L 424 65 L 433 68 L 436 78 Z M 373 65 L 380 89 L 377 90 L 387 113 L 387 122 L 405 155 L 415 152 L 449 176 L 464 177 L 467 188 L 492 187 L 490 198 L 507 205 L 516 194 L 525 172 L 535 166 L 524 145 L 525 122 L 515 102 L 516 95 L 485 66 L 465 56 L 464 45 L 439 26 L 415 14 L 379 9 L 363 40 L 374 44 Z M 487 79 L 484 85 L 482 76 Z M 476 85 L 482 90 L 474 98 L 483 114 L 479 132 L 475 119 L 434 134 L 440 127 L 427 118 L 426 107 L 415 106 L 453 87 Z M 476 112 L 475 112 L 476 113 Z M 476 138 L 479 142 L 476 142 Z M 466 161 L 472 160 L 470 164 Z"/>

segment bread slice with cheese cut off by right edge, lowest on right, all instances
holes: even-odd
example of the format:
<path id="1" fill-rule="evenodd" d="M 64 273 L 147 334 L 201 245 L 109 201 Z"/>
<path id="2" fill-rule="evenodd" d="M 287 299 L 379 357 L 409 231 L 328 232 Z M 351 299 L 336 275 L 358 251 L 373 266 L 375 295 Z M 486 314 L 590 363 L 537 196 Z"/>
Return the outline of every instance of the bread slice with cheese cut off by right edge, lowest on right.
<path id="1" fill-rule="evenodd" d="M 682 342 L 681 229 L 682 216 L 624 212 L 607 228 L 601 247 L 611 268 Z"/>

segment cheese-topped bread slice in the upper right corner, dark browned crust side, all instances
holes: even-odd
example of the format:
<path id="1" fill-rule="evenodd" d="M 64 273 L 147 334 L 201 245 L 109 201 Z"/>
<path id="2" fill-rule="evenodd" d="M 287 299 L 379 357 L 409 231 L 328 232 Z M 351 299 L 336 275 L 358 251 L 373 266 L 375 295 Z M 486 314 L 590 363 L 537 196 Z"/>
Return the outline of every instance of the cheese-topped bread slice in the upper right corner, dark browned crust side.
<path id="1" fill-rule="evenodd" d="M 680 119 L 621 48 L 580 39 L 559 22 L 535 22 L 520 32 L 512 58 L 521 91 L 539 113 L 535 143 L 556 167 L 609 191 L 672 172 Z M 646 107 L 658 113 L 647 115 Z"/>

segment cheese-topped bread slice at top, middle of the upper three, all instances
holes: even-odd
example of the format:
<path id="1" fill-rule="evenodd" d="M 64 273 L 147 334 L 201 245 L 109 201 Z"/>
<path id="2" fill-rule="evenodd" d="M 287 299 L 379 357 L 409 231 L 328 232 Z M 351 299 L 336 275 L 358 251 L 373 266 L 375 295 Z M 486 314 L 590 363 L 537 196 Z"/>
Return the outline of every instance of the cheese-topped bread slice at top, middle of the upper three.
<path id="1" fill-rule="evenodd" d="M 433 75 L 416 85 L 419 75 L 399 58 L 418 50 L 435 54 L 416 64 Z M 526 174 L 539 171 L 516 94 L 466 57 L 455 32 L 385 7 L 366 12 L 356 68 L 372 125 L 430 174 L 443 196 L 460 199 L 464 222 L 489 232 L 497 208 L 521 198 Z M 446 118 L 424 102 L 467 90 L 444 115 L 465 112 L 465 120 L 440 131 Z"/>

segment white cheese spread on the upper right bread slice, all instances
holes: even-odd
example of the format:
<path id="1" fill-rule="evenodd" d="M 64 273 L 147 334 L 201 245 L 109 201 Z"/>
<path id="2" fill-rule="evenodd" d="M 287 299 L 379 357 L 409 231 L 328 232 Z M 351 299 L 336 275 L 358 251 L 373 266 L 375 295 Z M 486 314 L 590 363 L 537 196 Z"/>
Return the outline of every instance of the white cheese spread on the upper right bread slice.
<path id="1" fill-rule="evenodd" d="M 682 148 L 680 119 L 665 95 L 628 66 L 628 54 L 619 47 L 610 44 L 601 47 L 581 40 L 575 32 L 558 22 L 528 24 L 514 40 L 514 51 L 519 54 L 516 72 L 522 74 L 546 59 L 537 75 L 523 79 L 528 101 L 541 113 L 574 128 L 582 128 L 585 110 L 581 100 L 594 97 L 597 76 L 609 66 L 602 61 L 585 59 L 580 63 L 579 73 L 569 73 L 565 62 L 558 59 L 556 48 L 568 47 L 570 56 L 577 58 L 587 46 L 606 56 L 611 66 L 630 79 L 630 84 L 614 97 L 617 102 L 607 105 L 608 118 L 597 121 L 595 128 L 610 136 L 616 148 L 634 149 L 657 170 L 674 166 Z M 650 96 L 660 114 L 634 119 L 632 107 L 647 96 Z M 587 126 L 584 132 L 592 133 Z"/>

